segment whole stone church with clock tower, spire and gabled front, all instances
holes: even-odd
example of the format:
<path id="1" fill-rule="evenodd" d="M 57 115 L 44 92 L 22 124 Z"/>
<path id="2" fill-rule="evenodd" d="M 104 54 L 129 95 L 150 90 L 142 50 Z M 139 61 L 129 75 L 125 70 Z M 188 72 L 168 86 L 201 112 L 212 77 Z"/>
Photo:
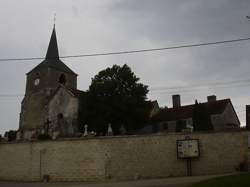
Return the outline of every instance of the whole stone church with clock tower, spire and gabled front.
<path id="1" fill-rule="evenodd" d="M 45 59 L 26 74 L 17 139 L 72 137 L 79 132 L 77 74 L 59 58 L 55 26 Z"/>

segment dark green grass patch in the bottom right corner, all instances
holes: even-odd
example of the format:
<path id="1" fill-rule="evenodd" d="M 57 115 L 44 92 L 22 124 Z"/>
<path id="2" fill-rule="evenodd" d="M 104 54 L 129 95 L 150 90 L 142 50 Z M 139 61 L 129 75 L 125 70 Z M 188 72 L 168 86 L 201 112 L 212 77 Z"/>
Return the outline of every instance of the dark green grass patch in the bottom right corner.
<path id="1" fill-rule="evenodd" d="M 250 173 L 208 179 L 192 187 L 250 187 Z"/>

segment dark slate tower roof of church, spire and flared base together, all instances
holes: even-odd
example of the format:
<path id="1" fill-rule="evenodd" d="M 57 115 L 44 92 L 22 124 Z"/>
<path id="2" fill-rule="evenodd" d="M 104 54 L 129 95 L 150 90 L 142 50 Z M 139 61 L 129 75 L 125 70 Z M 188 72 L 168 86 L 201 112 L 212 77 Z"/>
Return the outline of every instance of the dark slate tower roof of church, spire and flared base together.
<path id="1" fill-rule="evenodd" d="M 51 38 L 50 38 L 50 42 L 49 42 L 49 46 L 48 46 L 45 59 L 27 74 L 30 74 L 31 72 L 40 68 L 53 68 L 59 71 L 63 71 L 65 73 L 77 75 L 67 65 L 65 65 L 59 58 L 55 27 L 53 28 L 53 31 L 51 34 Z"/>

